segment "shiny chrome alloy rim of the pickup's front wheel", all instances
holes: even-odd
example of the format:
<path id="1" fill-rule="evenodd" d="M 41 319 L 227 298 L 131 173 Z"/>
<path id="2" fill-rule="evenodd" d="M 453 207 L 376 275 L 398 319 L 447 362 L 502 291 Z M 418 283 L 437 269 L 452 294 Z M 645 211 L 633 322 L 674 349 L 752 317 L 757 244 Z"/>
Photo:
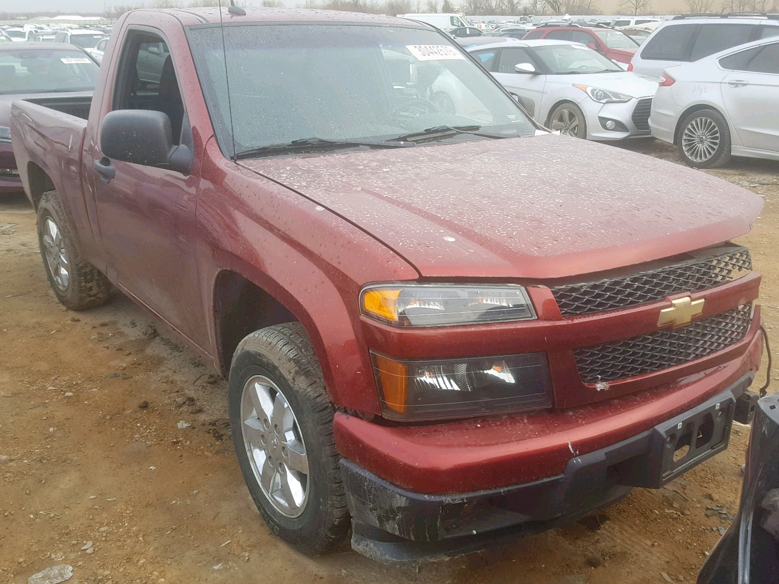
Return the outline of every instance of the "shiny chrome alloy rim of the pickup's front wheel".
<path id="1" fill-rule="evenodd" d="M 241 393 L 241 433 L 254 476 L 270 504 L 290 518 L 308 501 L 308 456 L 298 420 L 284 394 L 262 375 Z"/>

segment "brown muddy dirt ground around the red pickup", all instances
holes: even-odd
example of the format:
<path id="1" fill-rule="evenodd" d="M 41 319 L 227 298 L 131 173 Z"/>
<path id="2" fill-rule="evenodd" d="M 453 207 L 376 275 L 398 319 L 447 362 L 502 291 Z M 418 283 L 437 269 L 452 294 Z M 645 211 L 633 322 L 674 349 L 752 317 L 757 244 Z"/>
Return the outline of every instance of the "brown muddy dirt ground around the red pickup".
<path id="1" fill-rule="evenodd" d="M 679 163 L 661 142 L 624 147 Z M 742 243 L 763 273 L 763 315 L 774 328 L 779 164 L 735 160 L 713 174 L 765 199 Z M 347 548 L 306 558 L 252 505 L 232 453 L 225 382 L 158 336 L 125 297 L 62 308 L 26 199 L 0 201 L 0 582 L 59 564 L 82 583 L 694 582 L 729 524 L 707 517 L 707 506 L 738 508 L 748 439 L 749 428 L 736 427 L 727 452 L 660 491 L 636 489 L 599 530 L 576 524 L 418 569 Z"/>

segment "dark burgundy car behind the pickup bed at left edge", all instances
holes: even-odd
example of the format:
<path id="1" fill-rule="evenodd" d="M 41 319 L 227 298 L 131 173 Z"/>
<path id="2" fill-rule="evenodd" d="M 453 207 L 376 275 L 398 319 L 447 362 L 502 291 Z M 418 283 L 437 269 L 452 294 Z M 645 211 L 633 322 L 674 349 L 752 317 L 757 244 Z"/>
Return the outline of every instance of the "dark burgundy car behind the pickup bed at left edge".
<path id="1" fill-rule="evenodd" d="M 46 105 L 56 96 L 60 111 L 86 116 L 97 67 L 90 55 L 71 44 L 0 44 L 0 195 L 23 192 L 11 150 L 11 102 L 27 99 Z"/>

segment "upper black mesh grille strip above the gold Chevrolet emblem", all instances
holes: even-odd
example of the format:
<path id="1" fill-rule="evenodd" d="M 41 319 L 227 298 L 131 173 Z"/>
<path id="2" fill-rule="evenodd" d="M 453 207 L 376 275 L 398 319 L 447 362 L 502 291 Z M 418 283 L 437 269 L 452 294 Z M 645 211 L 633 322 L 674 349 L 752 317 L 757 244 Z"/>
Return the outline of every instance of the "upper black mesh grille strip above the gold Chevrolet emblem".
<path id="1" fill-rule="evenodd" d="M 627 276 L 552 287 L 552 294 L 563 316 L 590 315 L 664 300 L 670 294 L 707 290 L 751 270 L 748 249 L 726 246 Z"/>

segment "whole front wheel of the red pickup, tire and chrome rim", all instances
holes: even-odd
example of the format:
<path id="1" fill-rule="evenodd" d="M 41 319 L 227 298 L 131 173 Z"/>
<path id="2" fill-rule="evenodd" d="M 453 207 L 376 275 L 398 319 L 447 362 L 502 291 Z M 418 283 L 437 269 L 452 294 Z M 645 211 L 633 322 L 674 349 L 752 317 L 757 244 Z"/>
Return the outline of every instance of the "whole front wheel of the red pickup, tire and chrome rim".
<path id="1" fill-rule="evenodd" d="M 333 441 L 334 408 L 299 322 L 241 341 L 228 405 L 241 473 L 270 529 L 305 554 L 337 551 L 350 517 Z"/>

